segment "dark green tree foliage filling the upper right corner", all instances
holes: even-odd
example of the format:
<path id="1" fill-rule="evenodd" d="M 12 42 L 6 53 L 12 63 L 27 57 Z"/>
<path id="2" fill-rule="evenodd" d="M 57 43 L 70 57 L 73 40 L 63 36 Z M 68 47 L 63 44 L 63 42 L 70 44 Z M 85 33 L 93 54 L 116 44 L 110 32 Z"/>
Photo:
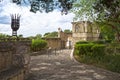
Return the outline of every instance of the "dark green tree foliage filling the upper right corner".
<path id="1" fill-rule="evenodd" d="M 97 0 L 93 8 L 98 16 L 97 23 L 112 28 L 120 41 L 120 0 Z"/>

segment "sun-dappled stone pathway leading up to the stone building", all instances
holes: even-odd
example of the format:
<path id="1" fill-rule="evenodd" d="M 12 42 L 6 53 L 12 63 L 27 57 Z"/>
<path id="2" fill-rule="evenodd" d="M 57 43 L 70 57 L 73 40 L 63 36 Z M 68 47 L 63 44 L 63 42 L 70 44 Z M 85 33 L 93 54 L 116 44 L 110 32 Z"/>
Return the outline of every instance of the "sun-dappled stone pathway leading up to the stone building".
<path id="1" fill-rule="evenodd" d="M 120 74 L 71 60 L 70 52 L 31 56 L 28 80 L 120 80 Z"/>

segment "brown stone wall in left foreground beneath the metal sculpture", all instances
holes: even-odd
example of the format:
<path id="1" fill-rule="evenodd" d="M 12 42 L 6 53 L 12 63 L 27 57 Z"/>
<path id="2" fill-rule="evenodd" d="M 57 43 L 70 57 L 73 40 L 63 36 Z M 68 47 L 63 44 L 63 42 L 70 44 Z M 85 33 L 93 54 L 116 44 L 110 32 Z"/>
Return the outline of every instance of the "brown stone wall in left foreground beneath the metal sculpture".
<path id="1" fill-rule="evenodd" d="M 0 39 L 0 80 L 24 80 L 30 62 L 28 39 Z"/>

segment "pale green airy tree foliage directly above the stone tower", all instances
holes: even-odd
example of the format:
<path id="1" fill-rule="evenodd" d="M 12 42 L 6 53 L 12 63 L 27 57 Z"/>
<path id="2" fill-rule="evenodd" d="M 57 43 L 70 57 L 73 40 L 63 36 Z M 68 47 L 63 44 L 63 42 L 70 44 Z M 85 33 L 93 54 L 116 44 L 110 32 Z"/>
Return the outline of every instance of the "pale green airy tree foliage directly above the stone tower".
<path id="1" fill-rule="evenodd" d="M 73 4 L 72 12 L 75 14 L 74 21 L 94 21 L 96 18 L 93 4 L 96 0 L 77 0 Z"/>

